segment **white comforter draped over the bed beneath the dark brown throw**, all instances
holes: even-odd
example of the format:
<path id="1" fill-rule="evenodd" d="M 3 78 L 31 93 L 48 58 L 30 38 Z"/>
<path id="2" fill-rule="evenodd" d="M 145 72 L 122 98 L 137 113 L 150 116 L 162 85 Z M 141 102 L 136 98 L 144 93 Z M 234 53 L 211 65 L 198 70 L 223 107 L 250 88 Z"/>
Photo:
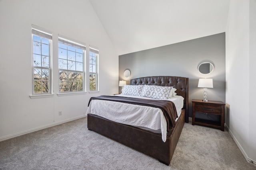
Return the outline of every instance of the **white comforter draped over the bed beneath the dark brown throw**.
<path id="1" fill-rule="evenodd" d="M 124 94 L 119 94 L 118 96 L 152 99 Z M 176 95 L 168 100 L 174 103 L 178 116 L 180 116 L 184 98 Z M 92 100 L 87 109 L 86 116 L 89 113 L 99 115 L 105 119 L 118 123 L 132 125 L 154 132 L 160 132 L 162 134 L 162 141 L 166 141 L 167 123 L 162 110 L 159 108 L 113 102 L 108 100 Z"/>

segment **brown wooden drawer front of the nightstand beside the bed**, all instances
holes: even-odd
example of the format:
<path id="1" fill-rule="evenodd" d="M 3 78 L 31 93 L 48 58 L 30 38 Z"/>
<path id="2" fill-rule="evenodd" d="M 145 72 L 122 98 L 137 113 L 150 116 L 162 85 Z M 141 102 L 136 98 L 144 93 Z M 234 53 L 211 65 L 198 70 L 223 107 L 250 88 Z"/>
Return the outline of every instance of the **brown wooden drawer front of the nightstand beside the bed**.
<path id="1" fill-rule="evenodd" d="M 221 115 L 221 106 L 195 104 L 195 111 L 201 112 L 201 113 L 211 113 L 211 114 Z"/>

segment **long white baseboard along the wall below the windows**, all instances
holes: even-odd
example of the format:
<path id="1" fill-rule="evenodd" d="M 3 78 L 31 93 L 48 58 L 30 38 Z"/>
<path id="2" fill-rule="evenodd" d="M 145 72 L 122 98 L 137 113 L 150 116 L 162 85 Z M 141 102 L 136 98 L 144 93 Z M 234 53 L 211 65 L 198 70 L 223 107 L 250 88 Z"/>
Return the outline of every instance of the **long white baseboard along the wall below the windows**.
<path id="1" fill-rule="evenodd" d="M 62 123 L 66 123 L 66 122 L 69 122 L 69 121 L 80 119 L 82 117 L 86 117 L 86 116 L 82 115 L 82 116 L 78 116 L 78 117 L 73 117 L 71 119 L 67 119 L 67 120 L 64 120 L 64 121 L 59 121 L 59 122 L 56 122 L 56 123 L 51 123 L 51 124 L 46 125 L 46 126 L 41 126 L 41 127 L 37 127 L 37 128 L 34 128 L 34 129 L 30 129 L 28 131 L 23 131 L 23 132 L 20 132 L 20 133 L 15 133 L 13 135 L 8 135 L 8 136 L 5 136 L 5 137 L 1 137 L 0 138 L 0 142 L 8 140 L 8 139 L 11 139 L 11 138 L 14 138 L 14 137 L 18 137 L 18 136 L 21 136 L 21 135 L 25 135 L 25 134 L 28 134 L 28 133 L 32 133 L 32 132 L 35 132 L 35 131 L 40 131 L 40 130 L 46 129 L 48 127 L 53 127 L 53 126 L 56 126 L 56 125 L 60 125 Z"/>

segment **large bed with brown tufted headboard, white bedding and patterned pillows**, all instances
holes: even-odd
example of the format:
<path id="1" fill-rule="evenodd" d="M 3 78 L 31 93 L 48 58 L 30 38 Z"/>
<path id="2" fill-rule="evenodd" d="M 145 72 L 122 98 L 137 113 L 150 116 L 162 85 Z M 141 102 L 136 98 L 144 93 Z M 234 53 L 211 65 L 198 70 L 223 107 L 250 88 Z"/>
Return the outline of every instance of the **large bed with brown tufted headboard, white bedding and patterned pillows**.
<path id="1" fill-rule="evenodd" d="M 183 125 L 185 122 L 188 123 L 188 78 L 179 76 L 142 77 L 130 80 L 130 85 L 124 87 L 122 94 L 115 95 L 120 98 L 118 100 L 132 97 L 132 100 L 136 102 L 140 102 L 138 101 L 140 98 L 142 101 L 147 98 L 148 100 L 170 100 L 171 102 L 163 101 L 159 104 L 158 101 L 152 101 L 148 104 L 146 100 L 143 102 L 148 106 L 137 106 L 136 102 L 119 103 L 113 100 L 98 100 L 105 96 L 94 97 L 93 100 L 90 99 L 86 112 L 88 129 L 168 165 L 174 154 Z M 159 90 L 161 89 L 159 86 L 162 86 L 164 90 Z M 171 88 L 177 89 L 176 95 L 173 96 L 168 91 Z M 168 92 L 170 96 L 168 96 Z M 166 108 L 172 107 L 171 112 L 176 113 L 177 111 L 176 114 L 179 117 L 176 118 L 176 114 L 166 116 L 166 110 L 162 107 L 161 109 L 150 107 L 151 103 L 157 103 L 159 106 L 168 103 Z M 168 120 L 166 121 L 166 119 Z"/>

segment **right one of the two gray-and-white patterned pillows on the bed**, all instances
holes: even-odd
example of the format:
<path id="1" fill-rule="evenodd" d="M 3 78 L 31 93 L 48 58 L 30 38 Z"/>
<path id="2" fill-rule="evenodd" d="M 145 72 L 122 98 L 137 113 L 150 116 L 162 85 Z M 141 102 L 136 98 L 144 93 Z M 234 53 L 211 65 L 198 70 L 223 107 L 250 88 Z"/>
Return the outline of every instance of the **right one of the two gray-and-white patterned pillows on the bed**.
<path id="1" fill-rule="evenodd" d="M 172 87 L 144 85 L 140 96 L 154 99 L 168 99 Z"/>

